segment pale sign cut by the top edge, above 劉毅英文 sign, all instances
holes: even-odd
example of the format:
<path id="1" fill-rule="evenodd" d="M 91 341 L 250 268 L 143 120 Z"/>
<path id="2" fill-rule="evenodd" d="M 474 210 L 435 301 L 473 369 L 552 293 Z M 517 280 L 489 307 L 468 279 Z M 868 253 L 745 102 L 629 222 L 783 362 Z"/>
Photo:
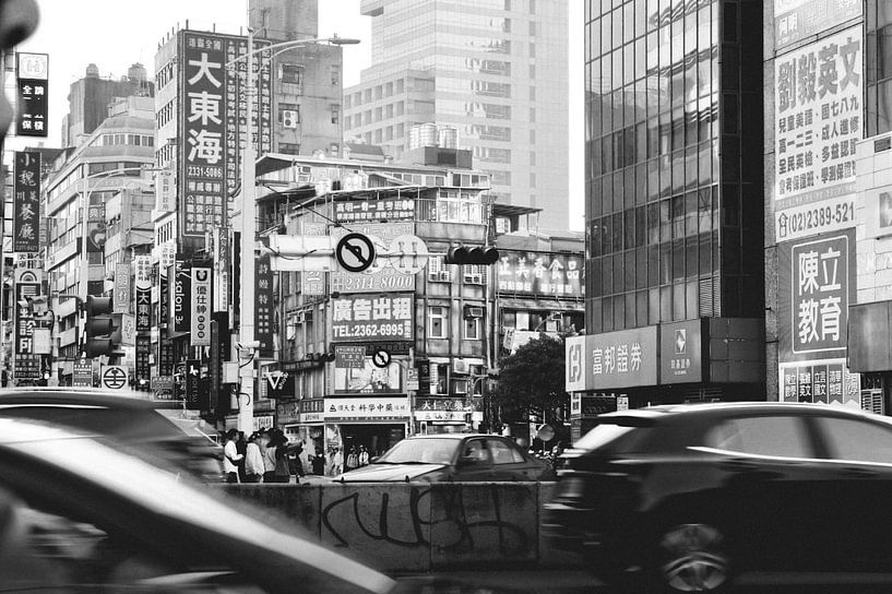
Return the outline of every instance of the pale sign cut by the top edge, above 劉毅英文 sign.
<path id="1" fill-rule="evenodd" d="M 774 0 L 774 47 L 793 45 L 860 14 L 860 0 Z"/>

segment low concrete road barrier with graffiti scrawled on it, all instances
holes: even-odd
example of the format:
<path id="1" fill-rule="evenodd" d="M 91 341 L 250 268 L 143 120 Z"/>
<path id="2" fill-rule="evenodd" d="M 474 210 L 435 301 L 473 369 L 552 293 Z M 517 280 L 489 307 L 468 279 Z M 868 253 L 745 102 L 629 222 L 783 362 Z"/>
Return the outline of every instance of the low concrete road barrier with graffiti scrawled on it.
<path id="1" fill-rule="evenodd" d="M 574 566 L 539 534 L 554 483 L 225 485 L 383 571 Z"/>

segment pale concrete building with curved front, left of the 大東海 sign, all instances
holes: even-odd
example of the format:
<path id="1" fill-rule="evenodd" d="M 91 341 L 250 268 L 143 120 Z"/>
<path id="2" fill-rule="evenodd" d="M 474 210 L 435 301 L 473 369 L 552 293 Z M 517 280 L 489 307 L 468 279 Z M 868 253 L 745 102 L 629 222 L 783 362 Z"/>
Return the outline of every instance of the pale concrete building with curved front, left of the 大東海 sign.
<path id="1" fill-rule="evenodd" d="M 45 180 L 45 270 L 57 316 L 53 375 L 62 383 L 70 384 L 81 355 L 79 301 L 109 294 L 115 264 L 151 243 L 147 211 L 154 191 L 143 169 L 154 166 L 154 98 L 120 97 L 81 144 L 58 157 Z M 132 355 L 133 345 L 123 346 Z"/>

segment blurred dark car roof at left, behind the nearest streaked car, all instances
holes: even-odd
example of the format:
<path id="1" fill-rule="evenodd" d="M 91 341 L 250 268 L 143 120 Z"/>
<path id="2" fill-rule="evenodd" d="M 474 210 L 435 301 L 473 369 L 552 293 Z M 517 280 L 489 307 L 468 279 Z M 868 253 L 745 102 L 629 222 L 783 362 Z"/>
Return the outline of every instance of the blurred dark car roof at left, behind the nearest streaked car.
<path id="1" fill-rule="evenodd" d="M 186 433 L 145 397 L 144 392 L 111 394 L 90 388 L 7 388 L 0 391 L 0 418 L 40 420 L 107 437 L 158 464 L 219 483 L 223 449 Z"/>

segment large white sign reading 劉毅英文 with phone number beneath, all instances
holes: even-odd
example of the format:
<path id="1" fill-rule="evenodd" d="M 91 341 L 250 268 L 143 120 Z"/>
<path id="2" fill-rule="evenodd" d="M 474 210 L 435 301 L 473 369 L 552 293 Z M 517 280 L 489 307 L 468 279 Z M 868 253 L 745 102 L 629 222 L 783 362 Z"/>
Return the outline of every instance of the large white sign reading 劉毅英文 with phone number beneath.
<path id="1" fill-rule="evenodd" d="M 863 60 L 860 26 L 775 59 L 776 216 L 855 193 L 855 146 L 864 130 Z M 822 230 L 813 227 L 813 233 Z"/>

